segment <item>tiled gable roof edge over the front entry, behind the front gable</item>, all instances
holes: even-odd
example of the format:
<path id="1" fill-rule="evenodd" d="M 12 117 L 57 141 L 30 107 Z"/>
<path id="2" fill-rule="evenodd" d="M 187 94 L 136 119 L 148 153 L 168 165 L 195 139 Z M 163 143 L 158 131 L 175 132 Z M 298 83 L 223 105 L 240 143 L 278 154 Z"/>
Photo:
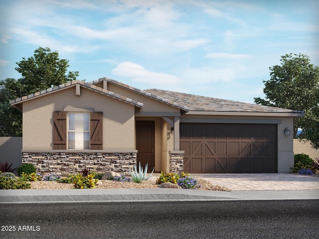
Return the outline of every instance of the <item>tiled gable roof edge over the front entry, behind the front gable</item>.
<path id="1" fill-rule="evenodd" d="M 161 103 L 164 103 L 166 105 L 176 107 L 176 108 L 178 108 L 178 109 L 180 109 L 180 110 L 182 110 L 184 112 L 188 112 L 189 111 L 188 107 L 186 107 L 184 104 L 179 104 L 179 103 L 171 101 L 171 100 L 169 100 L 167 98 L 162 98 L 159 95 L 155 95 L 155 94 L 152 94 L 152 93 L 149 93 L 149 92 L 146 92 L 146 91 L 142 91 L 142 90 L 137 89 L 135 87 L 123 84 L 121 82 L 118 82 L 118 81 L 115 81 L 115 80 L 112 80 L 112 79 L 109 79 L 109 78 L 106 78 L 106 77 L 100 78 L 100 79 L 95 80 L 95 81 L 92 81 L 92 82 L 90 82 L 88 84 L 95 85 L 95 84 L 98 84 L 98 83 L 103 82 L 103 81 L 107 81 L 107 82 L 109 82 L 111 84 L 120 86 L 122 88 L 125 88 L 127 90 L 133 91 L 133 92 L 138 93 L 140 95 L 144 95 L 144 96 L 149 97 L 151 99 L 154 99 L 156 101 L 160 101 Z"/>

